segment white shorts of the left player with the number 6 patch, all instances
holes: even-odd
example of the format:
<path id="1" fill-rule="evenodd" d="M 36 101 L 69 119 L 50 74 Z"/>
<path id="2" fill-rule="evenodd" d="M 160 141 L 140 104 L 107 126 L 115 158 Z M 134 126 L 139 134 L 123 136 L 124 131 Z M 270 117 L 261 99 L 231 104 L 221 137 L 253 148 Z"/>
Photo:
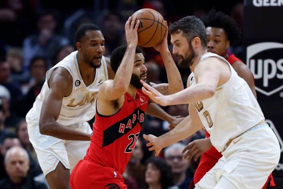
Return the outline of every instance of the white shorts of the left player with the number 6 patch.
<path id="1" fill-rule="evenodd" d="M 29 140 L 37 154 L 44 176 L 54 171 L 59 161 L 71 172 L 78 161 L 84 158 L 90 145 L 90 141 L 67 141 L 42 135 L 39 132 L 39 121 L 30 120 L 28 117 L 27 124 Z M 89 134 L 92 132 L 87 122 L 77 123 L 68 128 Z"/>

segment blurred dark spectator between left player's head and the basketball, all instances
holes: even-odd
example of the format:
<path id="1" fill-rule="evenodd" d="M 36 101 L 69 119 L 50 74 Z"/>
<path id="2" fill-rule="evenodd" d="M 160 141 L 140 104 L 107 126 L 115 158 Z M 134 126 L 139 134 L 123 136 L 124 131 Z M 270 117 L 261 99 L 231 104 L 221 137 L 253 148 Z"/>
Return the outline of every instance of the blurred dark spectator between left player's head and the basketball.
<path id="1" fill-rule="evenodd" d="M 103 36 L 105 39 L 104 56 L 110 56 L 112 51 L 120 46 L 125 35 L 123 17 L 119 12 L 108 12 L 103 19 Z"/>

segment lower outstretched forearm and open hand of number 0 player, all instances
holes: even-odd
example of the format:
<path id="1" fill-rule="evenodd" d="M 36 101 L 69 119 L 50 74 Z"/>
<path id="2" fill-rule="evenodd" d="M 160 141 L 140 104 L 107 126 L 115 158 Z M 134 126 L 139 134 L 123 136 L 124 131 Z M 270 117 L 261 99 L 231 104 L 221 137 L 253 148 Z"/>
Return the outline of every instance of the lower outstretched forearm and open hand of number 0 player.
<path id="1" fill-rule="evenodd" d="M 155 150 L 155 156 L 158 156 L 162 148 L 179 142 L 202 129 L 203 124 L 192 104 L 189 105 L 189 114 L 190 115 L 182 120 L 172 131 L 162 136 L 144 135 L 144 139 L 149 141 L 147 146 L 152 146 L 149 148 L 149 151 Z"/>

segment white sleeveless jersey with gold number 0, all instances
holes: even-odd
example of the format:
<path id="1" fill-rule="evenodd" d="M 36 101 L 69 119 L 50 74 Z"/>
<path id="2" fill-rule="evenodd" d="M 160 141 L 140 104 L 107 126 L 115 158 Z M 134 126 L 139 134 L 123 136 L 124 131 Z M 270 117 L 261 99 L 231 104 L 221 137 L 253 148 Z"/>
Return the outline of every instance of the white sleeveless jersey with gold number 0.
<path id="1" fill-rule="evenodd" d="M 200 62 L 212 56 L 227 62 L 231 69 L 231 77 L 225 84 L 216 88 L 213 97 L 193 105 L 210 134 L 212 145 L 218 151 L 222 151 L 229 139 L 264 120 L 264 115 L 249 85 L 238 76 L 225 58 L 214 53 L 206 53 L 200 57 Z M 193 72 L 189 79 L 190 86 L 196 84 Z"/>

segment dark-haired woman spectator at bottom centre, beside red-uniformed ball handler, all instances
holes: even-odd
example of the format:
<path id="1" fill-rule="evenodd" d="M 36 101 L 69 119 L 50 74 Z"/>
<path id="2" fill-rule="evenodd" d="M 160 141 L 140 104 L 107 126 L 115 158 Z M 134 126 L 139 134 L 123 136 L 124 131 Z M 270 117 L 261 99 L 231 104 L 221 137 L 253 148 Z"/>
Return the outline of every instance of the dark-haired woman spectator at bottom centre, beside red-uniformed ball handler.
<path id="1" fill-rule="evenodd" d="M 148 189 L 178 189 L 173 183 L 171 167 L 164 159 L 158 157 L 147 160 L 145 182 Z"/>

